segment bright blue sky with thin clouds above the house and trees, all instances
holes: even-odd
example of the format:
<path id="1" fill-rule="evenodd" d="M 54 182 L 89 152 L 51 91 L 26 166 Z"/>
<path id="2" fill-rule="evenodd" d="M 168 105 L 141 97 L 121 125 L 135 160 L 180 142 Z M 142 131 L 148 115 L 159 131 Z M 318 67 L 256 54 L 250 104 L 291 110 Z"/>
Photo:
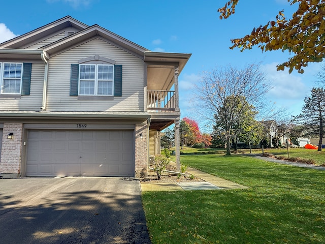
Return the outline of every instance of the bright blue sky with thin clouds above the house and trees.
<path id="1" fill-rule="evenodd" d="M 203 72 L 231 64 L 243 68 L 262 62 L 267 82 L 273 89 L 268 99 L 293 115 L 300 113 L 303 100 L 315 85 L 321 64 L 310 64 L 305 73 L 276 65 L 287 60 L 286 52 L 264 52 L 257 48 L 240 52 L 230 50 L 230 39 L 249 34 L 253 27 L 274 20 L 284 9 L 287 18 L 296 6 L 286 0 L 241 0 L 235 15 L 219 20 L 217 9 L 226 0 L 36 0 L 4 1 L 0 15 L 0 42 L 22 35 L 64 16 L 87 24 L 99 24 L 152 51 L 192 53 L 180 74 L 180 108 L 182 117 L 192 116 L 190 97 L 194 84 Z"/>

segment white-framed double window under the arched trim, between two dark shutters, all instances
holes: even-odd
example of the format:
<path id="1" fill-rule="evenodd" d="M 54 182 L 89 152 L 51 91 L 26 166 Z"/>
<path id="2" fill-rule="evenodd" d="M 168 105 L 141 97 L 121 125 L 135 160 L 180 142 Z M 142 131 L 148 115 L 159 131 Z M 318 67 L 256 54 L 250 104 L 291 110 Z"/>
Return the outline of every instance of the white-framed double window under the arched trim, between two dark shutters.
<path id="1" fill-rule="evenodd" d="M 114 65 L 79 65 L 80 96 L 113 96 Z"/>

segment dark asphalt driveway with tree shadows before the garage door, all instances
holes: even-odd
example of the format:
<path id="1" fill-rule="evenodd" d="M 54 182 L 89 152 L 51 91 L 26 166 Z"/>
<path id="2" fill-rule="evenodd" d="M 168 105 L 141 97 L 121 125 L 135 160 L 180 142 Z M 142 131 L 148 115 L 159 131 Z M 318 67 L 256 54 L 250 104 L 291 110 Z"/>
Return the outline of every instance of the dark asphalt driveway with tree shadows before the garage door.
<path id="1" fill-rule="evenodd" d="M 1 243 L 151 243 L 139 181 L 0 179 Z"/>

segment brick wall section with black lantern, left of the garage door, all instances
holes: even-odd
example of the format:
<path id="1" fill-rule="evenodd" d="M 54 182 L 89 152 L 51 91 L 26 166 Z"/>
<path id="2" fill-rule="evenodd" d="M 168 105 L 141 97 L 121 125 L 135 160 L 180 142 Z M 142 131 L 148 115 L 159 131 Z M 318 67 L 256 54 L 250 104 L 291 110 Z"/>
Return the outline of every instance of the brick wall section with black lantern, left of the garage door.
<path id="1" fill-rule="evenodd" d="M 9 133 L 14 133 L 12 140 Z M 2 138 L 0 173 L 20 175 L 22 124 L 5 123 Z"/>

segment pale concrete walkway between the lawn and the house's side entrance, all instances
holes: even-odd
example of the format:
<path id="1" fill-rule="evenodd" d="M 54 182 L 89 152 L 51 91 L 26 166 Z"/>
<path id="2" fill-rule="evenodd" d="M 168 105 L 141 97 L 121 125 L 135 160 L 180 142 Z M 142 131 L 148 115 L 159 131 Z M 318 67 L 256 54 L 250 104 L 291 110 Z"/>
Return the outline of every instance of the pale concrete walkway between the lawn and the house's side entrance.
<path id="1" fill-rule="evenodd" d="M 170 165 L 176 166 L 174 162 Z M 147 184 L 141 182 L 141 191 L 196 191 L 196 190 L 230 190 L 230 189 L 247 189 L 235 182 L 222 179 L 220 177 L 204 173 L 200 170 L 188 167 L 186 173 L 193 174 L 201 178 L 204 182 L 179 182 L 179 183 L 158 183 Z"/>

